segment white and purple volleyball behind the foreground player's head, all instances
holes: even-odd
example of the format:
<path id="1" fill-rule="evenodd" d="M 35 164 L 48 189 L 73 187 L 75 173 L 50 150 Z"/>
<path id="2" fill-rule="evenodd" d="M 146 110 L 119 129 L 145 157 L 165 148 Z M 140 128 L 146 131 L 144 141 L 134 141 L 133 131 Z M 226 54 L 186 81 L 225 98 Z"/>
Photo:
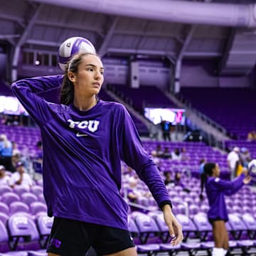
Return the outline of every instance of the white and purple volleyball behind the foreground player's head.
<path id="1" fill-rule="evenodd" d="M 58 48 L 58 64 L 62 70 L 65 70 L 65 63 L 75 53 L 96 54 L 96 50 L 93 44 L 86 38 L 75 36 L 66 39 Z"/>

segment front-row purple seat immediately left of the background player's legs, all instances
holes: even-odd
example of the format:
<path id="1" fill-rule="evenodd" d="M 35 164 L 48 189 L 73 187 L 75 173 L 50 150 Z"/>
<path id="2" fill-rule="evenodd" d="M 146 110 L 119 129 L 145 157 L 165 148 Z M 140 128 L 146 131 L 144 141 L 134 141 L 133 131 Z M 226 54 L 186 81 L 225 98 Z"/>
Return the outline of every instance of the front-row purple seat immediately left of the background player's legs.
<path id="1" fill-rule="evenodd" d="M 193 223 L 196 225 L 198 235 L 201 241 L 205 241 L 208 234 L 212 232 L 212 227 L 208 221 L 207 215 L 198 213 L 193 217 Z"/>

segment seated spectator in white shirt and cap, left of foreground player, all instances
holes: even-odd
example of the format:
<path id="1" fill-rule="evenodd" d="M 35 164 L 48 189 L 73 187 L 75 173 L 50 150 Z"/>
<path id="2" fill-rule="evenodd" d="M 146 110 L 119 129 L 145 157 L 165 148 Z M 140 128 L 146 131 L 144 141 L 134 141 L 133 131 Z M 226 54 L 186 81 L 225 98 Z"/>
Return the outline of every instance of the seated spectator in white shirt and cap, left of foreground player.
<path id="1" fill-rule="evenodd" d="M 11 175 L 9 184 L 11 188 L 14 188 L 15 186 L 31 188 L 31 186 L 33 185 L 32 178 L 26 173 L 22 162 L 18 162 L 16 164 L 16 172 Z"/>

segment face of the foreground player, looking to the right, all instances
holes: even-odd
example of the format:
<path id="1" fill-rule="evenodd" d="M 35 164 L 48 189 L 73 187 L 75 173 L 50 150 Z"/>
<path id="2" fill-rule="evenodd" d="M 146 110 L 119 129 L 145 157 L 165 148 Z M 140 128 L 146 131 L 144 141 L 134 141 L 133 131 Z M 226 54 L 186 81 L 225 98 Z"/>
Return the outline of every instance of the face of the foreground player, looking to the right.
<path id="1" fill-rule="evenodd" d="M 77 73 L 68 73 L 68 78 L 74 84 L 74 90 L 81 95 L 92 96 L 100 92 L 104 81 L 102 61 L 96 55 L 88 54 L 82 57 Z"/>

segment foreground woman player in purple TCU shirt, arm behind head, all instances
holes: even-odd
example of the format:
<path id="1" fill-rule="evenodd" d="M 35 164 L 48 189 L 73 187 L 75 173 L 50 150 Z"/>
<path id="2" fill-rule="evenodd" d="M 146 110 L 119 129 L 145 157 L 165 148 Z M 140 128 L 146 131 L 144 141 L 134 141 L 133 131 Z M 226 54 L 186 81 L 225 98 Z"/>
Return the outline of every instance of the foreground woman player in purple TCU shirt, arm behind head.
<path id="1" fill-rule="evenodd" d="M 47 252 L 85 255 L 137 255 L 127 223 L 127 203 L 120 195 L 121 160 L 149 187 L 169 227 L 172 245 L 183 240 L 182 227 L 159 170 L 146 153 L 132 118 L 117 102 L 97 99 L 104 68 L 96 55 L 79 53 L 65 75 L 28 78 L 12 90 L 41 128 L 43 193 L 54 216 Z M 38 94 L 61 86 L 60 104 Z"/>

